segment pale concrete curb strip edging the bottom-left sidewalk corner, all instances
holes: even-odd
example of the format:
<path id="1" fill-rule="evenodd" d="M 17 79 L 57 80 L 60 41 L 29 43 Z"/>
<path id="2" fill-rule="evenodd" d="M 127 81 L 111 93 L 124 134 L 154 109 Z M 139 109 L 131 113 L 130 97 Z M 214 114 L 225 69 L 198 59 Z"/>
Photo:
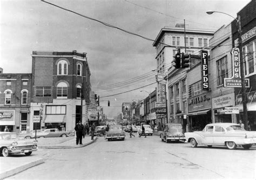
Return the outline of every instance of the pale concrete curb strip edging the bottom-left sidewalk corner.
<path id="1" fill-rule="evenodd" d="M 15 174 L 17 174 L 19 172 L 22 172 L 22 171 L 24 171 L 26 169 L 34 167 L 35 165 L 42 164 L 43 162 L 44 162 L 44 160 L 42 158 L 39 158 L 36 161 L 26 163 L 24 165 L 21 165 L 18 168 L 13 168 L 13 169 L 6 170 L 5 172 L 2 172 L 0 174 L 0 179 L 4 179 L 4 178 L 7 178 L 9 176 L 13 176 L 13 175 L 15 175 Z"/>

